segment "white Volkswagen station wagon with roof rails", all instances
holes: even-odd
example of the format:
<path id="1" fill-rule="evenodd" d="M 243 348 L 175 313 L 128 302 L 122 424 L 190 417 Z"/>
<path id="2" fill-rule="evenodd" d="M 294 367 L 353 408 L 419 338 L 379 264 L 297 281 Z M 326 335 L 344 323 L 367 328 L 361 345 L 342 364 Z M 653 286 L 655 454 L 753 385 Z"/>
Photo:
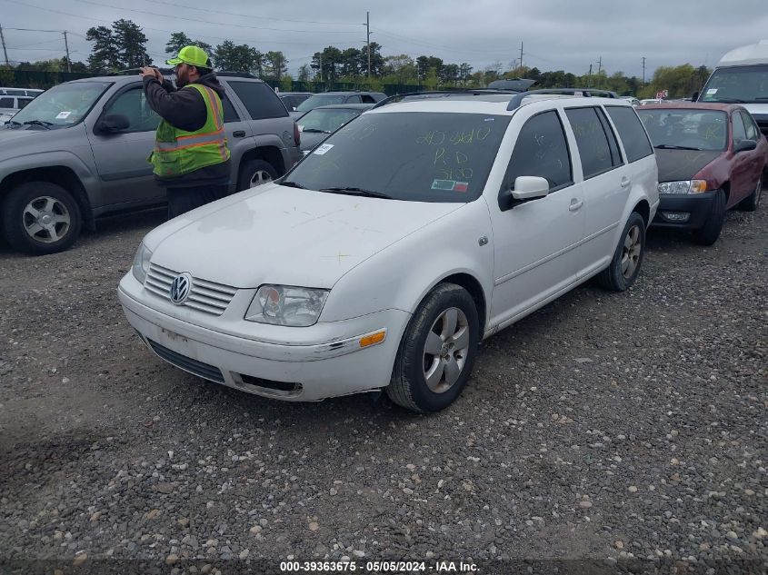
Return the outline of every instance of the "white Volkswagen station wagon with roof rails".
<path id="1" fill-rule="evenodd" d="M 597 275 L 630 287 L 658 205 L 623 101 L 433 94 L 376 106 L 282 180 L 148 233 L 119 286 L 166 362 L 314 401 L 462 392 L 478 342 Z"/>

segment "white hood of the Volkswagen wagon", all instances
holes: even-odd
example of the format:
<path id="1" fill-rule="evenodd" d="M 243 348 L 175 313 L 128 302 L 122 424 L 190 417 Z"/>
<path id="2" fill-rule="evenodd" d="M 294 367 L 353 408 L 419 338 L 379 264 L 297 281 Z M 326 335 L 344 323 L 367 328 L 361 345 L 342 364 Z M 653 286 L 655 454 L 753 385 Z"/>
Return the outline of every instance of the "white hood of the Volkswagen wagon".
<path id="1" fill-rule="evenodd" d="M 211 282 L 330 288 L 374 253 L 463 205 L 269 183 L 175 218 L 146 243 L 154 251 L 152 263 Z"/>

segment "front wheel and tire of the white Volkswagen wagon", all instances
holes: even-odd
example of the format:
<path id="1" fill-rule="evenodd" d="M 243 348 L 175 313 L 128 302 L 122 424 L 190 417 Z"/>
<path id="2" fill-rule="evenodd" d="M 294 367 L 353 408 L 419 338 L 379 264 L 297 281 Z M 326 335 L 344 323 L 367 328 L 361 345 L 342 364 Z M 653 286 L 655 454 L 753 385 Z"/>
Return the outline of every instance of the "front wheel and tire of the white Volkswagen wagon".
<path id="1" fill-rule="evenodd" d="M 479 332 L 469 292 L 454 283 L 435 287 L 419 304 L 400 342 L 386 387 L 389 398 L 421 413 L 446 408 L 469 380 Z M 448 366 L 453 367 L 446 370 Z M 429 382 L 428 374 L 434 376 Z"/>

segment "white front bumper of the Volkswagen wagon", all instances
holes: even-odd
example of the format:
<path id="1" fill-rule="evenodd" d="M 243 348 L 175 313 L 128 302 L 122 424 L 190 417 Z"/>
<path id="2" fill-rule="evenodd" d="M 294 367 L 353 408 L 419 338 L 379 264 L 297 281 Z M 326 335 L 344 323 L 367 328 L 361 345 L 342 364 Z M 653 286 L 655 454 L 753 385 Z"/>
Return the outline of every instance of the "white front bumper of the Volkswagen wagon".
<path id="1" fill-rule="evenodd" d="M 160 305 L 152 300 L 155 296 L 146 293 L 131 272 L 117 292 L 128 322 L 166 362 L 243 392 L 294 402 L 388 385 L 398 344 L 410 319 L 407 312 L 384 310 L 343 322 L 292 328 L 302 332 L 301 344 L 264 342 L 252 339 L 246 331 L 275 326 L 243 321 L 245 332 L 238 336 L 155 309 Z M 384 342 L 359 347 L 360 336 L 381 329 L 387 331 Z M 312 332 L 318 335 L 315 342 L 311 342 L 311 335 L 307 337 Z"/>

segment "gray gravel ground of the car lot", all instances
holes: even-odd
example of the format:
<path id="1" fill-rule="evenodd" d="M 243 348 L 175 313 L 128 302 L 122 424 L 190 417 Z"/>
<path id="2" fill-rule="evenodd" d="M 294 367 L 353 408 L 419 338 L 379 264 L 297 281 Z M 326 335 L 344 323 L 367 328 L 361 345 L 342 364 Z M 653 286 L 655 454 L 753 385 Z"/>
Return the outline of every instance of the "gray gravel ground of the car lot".
<path id="1" fill-rule="evenodd" d="M 766 208 L 711 248 L 651 233 L 632 290 L 587 284 L 494 336 L 431 416 L 274 402 L 150 355 L 115 287 L 162 213 L 66 253 L 0 246 L 5 572 L 765 572 Z"/>

